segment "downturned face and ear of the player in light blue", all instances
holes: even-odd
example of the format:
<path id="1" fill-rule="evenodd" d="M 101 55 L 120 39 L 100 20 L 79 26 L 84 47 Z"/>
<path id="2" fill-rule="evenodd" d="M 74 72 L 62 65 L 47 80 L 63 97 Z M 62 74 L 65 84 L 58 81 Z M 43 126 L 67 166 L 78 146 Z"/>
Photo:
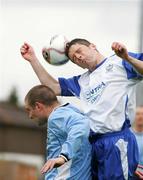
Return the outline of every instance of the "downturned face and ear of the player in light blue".
<path id="1" fill-rule="evenodd" d="M 47 115 L 44 111 L 44 106 L 40 103 L 35 104 L 34 107 L 25 102 L 25 109 L 30 119 L 38 123 L 39 126 L 44 125 L 47 122 Z"/>

